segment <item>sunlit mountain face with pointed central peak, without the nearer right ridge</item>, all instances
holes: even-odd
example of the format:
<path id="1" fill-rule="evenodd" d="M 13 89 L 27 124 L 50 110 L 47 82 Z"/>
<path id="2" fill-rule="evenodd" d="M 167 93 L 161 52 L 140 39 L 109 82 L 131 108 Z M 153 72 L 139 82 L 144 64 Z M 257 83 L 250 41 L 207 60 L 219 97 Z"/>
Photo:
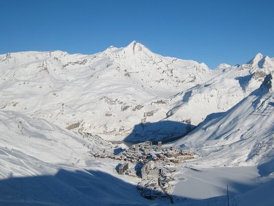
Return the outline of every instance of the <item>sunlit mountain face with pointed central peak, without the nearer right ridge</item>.
<path id="1" fill-rule="evenodd" d="M 3 54 L 0 108 L 119 140 L 138 124 L 146 127 L 164 119 L 171 95 L 210 78 L 212 72 L 203 63 L 153 54 L 135 41 L 90 56 L 60 51 Z M 174 127 L 176 135 L 186 131 L 186 126 Z"/>

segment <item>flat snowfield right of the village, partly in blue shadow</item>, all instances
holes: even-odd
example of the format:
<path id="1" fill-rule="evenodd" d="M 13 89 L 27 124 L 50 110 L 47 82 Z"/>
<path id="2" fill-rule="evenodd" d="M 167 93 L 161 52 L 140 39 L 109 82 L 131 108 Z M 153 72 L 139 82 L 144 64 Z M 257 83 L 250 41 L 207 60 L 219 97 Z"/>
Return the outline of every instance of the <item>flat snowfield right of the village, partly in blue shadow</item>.
<path id="1" fill-rule="evenodd" d="M 271 205 L 271 179 L 258 177 L 256 167 L 182 168 L 173 196 L 182 205 Z M 175 201 L 175 202 L 176 202 Z M 179 202 L 177 201 L 177 202 Z M 179 205 L 179 204 L 178 204 Z"/>

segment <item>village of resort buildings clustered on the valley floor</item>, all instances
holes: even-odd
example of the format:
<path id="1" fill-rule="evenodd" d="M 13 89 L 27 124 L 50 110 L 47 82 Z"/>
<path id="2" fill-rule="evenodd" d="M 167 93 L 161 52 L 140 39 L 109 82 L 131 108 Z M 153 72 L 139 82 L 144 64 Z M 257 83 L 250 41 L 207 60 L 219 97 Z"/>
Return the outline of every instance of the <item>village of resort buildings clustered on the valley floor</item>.
<path id="1" fill-rule="evenodd" d="M 142 181 L 138 183 L 137 189 L 145 198 L 170 197 L 173 190 L 173 172 L 176 172 L 176 163 L 193 159 L 195 154 L 185 152 L 174 146 L 162 146 L 162 142 L 153 145 L 151 141 L 134 144 L 122 150 L 118 155 L 109 151 L 92 151 L 91 155 L 98 158 L 109 158 L 123 161 L 119 164 L 117 172 L 130 176 L 139 176 Z M 129 168 L 129 163 L 134 163 L 134 168 Z M 140 165 L 140 167 L 138 167 Z"/>

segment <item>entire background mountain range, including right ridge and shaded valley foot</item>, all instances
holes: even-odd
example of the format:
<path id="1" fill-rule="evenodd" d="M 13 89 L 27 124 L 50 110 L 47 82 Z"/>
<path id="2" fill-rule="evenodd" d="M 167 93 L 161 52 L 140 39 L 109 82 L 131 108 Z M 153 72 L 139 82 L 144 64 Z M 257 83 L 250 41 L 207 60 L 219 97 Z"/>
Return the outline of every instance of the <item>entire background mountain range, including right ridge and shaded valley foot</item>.
<path id="1" fill-rule="evenodd" d="M 3 54 L 0 109 L 110 140 L 176 137 L 247 97 L 271 70 L 273 59 L 261 54 L 210 70 L 136 41 L 94 55 Z"/>

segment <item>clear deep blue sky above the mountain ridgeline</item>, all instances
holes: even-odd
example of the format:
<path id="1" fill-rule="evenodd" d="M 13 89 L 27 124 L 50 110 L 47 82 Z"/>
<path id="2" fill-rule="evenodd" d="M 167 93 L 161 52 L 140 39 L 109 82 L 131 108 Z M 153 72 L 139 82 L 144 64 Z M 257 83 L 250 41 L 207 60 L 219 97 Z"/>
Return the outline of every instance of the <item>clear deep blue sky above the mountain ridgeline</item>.
<path id="1" fill-rule="evenodd" d="M 94 54 L 138 41 L 163 56 L 242 64 L 274 56 L 273 0 L 0 0 L 0 54 Z"/>

